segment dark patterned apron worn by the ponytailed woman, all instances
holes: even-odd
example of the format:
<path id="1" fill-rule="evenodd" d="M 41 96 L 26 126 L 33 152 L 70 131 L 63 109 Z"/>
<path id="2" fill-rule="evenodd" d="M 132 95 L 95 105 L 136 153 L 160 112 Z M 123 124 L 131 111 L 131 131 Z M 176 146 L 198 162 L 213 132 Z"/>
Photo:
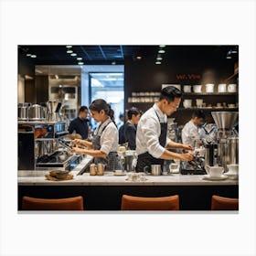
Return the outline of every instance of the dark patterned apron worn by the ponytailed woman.
<path id="1" fill-rule="evenodd" d="M 106 127 L 112 123 L 112 120 L 110 119 L 104 126 L 100 126 L 97 130 L 97 133 L 92 138 L 92 148 L 94 150 L 100 150 L 101 149 L 101 133 L 106 129 Z M 107 155 L 106 158 L 102 157 L 94 157 L 93 159 L 94 164 L 104 164 L 106 165 L 105 170 L 106 171 L 114 171 L 114 170 L 123 170 L 123 165 L 121 163 L 120 157 L 117 154 L 117 152 L 110 152 L 109 155 Z"/>

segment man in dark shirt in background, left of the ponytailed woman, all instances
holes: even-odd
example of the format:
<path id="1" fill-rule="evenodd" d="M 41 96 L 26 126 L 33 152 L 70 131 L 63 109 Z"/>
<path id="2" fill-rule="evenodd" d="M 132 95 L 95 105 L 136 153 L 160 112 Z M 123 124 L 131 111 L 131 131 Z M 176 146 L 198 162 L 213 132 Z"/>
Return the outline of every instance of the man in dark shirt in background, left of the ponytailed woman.
<path id="1" fill-rule="evenodd" d="M 82 138 L 83 140 L 88 138 L 88 107 L 81 106 L 79 110 L 79 115 L 77 118 L 71 121 L 69 124 L 69 133 L 75 132 L 75 138 Z M 80 134 L 78 136 L 77 134 Z M 71 134 L 72 135 L 72 134 Z"/>

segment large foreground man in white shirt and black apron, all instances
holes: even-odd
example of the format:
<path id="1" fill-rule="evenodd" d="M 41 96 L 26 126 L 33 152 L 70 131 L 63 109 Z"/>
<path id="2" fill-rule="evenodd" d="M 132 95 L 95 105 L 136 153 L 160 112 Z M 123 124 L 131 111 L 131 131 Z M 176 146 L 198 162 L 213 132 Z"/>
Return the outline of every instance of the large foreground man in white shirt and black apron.
<path id="1" fill-rule="evenodd" d="M 164 165 L 164 160 L 191 161 L 190 153 L 178 154 L 167 148 L 193 150 L 190 144 L 178 144 L 167 138 L 167 116 L 176 112 L 181 101 L 181 91 L 168 86 L 162 89 L 159 101 L 142 115 L 136 133 L 136 172 L 144 172 L 144 166 Z"/>

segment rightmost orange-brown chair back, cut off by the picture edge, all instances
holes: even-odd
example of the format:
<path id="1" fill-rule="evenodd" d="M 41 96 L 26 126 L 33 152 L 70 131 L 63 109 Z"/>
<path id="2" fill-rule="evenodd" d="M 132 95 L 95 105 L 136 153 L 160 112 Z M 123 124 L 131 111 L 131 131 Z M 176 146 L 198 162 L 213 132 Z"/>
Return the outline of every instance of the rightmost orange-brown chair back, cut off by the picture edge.
<path id="1" fill-rule="evenodd" d="M 239 199 L 229 197 L 219 197 L 213 195 L 211 197 L 211 209 L 212 210 L 238 210 Z"/>

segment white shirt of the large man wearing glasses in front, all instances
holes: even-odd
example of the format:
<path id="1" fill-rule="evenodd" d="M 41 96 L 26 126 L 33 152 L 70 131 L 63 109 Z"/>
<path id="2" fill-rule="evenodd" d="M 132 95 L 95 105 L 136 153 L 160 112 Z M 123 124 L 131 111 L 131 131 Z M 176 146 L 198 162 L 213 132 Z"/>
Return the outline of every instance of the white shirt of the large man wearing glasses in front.
<path id="1" fill-rule="evenodd" d="M 136 154 L 141 155 L 148 152 L 155 158 L 160 158 L 165 152 L 165 147 L 159 144 L 159 136 L 161 134 L 161 123 L 167 122 L 167 116 L 165 113 L 161 112 L 155 103 L 152 108 L 144 112 L 142 115 L 136 133 Z M 166 145 L 169 144 L 171 140 L 166 138 Z"/>

